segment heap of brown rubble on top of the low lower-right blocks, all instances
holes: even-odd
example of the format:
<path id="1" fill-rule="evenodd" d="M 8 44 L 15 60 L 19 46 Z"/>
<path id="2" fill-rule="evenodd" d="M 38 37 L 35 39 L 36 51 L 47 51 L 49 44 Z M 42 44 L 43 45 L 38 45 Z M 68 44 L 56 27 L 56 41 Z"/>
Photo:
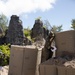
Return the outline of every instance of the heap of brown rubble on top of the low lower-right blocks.
<path id="1" fill-rule="evenodd" d="M 51 65 L 65 66 L 67 68 L 75 69 L 75 58 L 70 58 L 70 56 L 63 57 L 54 57 L 48 60 Z"/>

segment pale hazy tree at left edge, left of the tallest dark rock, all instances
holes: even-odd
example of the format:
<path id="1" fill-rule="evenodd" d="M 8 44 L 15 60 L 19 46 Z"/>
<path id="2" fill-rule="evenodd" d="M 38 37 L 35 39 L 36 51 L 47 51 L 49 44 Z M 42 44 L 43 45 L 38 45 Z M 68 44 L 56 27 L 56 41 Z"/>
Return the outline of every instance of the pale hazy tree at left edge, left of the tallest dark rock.
<path id="1" fill-rule="evenodd" d="M 2 28 L 3 32 L 5 32 L 7 29 L 7 23 L 8 23 L 7 17 L 4 14 L 1 14 L 0 15 L 0 28 Z"/>

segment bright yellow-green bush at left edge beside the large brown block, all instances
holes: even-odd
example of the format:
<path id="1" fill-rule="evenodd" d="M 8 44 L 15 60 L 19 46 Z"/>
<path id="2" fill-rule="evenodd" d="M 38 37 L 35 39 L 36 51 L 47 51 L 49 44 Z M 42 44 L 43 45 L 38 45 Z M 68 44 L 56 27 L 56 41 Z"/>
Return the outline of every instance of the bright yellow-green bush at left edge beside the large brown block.
<path id="1" fill-rule="evenodd" d="M 0 66 L 8 65 L 10 57 L 10 48 L 8 45 L 0 45 Z"/>

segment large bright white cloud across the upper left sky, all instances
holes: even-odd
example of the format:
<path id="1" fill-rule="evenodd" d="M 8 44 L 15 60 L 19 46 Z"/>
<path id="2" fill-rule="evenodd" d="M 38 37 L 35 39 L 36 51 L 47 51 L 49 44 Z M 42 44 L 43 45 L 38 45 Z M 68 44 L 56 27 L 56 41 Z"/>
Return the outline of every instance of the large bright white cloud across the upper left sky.
<path id="1" fill-rule="evenodd" d="M 46 11 L 53 8 L 56 0 L 0 0 L 0 13 L 6 16 Z"/>

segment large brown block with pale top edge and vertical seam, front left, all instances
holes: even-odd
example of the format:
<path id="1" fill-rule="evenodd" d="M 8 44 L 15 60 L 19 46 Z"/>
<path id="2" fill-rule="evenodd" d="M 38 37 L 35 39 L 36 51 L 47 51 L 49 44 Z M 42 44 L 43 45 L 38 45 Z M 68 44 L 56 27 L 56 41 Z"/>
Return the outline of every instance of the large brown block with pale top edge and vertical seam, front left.
<path id="1" fill-rule="evenodd" d="M 35 75 L 39 63 L 35 46 L 11 46 L 9 75 Z M 41 60 L 41 57 L 39 58 Z M 37 64 L 38 63 L 38 64 Z"/>

